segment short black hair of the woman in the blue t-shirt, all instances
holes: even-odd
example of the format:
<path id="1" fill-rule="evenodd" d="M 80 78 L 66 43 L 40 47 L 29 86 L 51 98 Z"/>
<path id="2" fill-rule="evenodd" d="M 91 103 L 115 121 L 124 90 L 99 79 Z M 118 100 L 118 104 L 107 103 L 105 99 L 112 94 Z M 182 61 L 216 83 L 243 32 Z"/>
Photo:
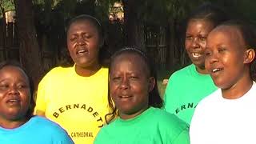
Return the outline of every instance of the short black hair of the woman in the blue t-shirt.
<path id="1" fill-rule="evenodd" d="M 0 63 L 0 70 L 2 70 L 4 67 L 6 66 L 15 66 L 15 67 L 18 67 L 20 68 L 25 74 L 26 74 L 26 77 L 28 78 L 29 80 L 29 84 L 30 84 L 30 106 L 29 106 L 29 109 L 28 111 L 26 112 L 26 118 L 31 118 L 33 116 L 33 113 L 34 113 L 34 107 L 35 107 L 35 102 L 34 102 L 34 82 L 32 80 L 32 78 L 30 78 L 30 76 L 28 75 L 28 73 L 26 73 L 26 70 L 25 68 L 23 68 L 19 62 L 16 62 L 16 61 L 4 61 L 4 62 L 1 62 Z"/>

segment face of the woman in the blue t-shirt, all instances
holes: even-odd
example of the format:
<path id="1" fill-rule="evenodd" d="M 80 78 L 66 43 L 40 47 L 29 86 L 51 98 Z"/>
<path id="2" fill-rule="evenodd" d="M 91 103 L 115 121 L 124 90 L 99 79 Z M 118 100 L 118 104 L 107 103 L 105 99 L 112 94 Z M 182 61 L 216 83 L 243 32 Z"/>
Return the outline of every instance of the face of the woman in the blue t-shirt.
<path id="1" fill-rule="evenodd" d="M 23 70 L 5 66 L 0 70 L 0 120 L 25 118 L 30 106 L 30 84 Z"/>

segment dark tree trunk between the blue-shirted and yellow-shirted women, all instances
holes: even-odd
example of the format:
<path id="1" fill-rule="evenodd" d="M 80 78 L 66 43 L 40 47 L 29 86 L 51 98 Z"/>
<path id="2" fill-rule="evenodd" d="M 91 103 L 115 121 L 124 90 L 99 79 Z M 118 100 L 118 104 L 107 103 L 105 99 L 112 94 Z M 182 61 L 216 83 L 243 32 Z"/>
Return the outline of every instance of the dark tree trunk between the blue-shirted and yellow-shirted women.
<path id="1" fill-rule="evenodd" d="M 14 4 L 17 13 L 20 62 L 37 86 L 42 76 L 42 58 L 34 27 L 32 0 L 14 0 Z"/>

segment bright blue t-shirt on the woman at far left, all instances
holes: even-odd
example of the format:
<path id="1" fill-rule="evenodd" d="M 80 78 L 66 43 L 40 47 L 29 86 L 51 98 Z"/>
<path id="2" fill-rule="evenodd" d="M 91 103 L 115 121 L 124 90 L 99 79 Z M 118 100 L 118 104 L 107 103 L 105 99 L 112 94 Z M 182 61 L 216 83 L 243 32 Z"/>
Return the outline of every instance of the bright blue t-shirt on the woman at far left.
<path id="1" fill-rule="evenodd" d="M 73 144 L 70 136 L 58 124 L 46 118 L 34 116 L 14 129 L 0 126 L 1 144 Z"/>

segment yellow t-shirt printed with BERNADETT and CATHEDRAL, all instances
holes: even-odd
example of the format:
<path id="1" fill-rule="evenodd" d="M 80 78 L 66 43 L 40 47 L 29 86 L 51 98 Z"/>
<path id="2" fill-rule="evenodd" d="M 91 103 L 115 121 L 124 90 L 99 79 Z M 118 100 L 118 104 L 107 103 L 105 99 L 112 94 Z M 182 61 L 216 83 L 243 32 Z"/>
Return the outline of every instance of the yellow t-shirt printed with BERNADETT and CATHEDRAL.
<path id="1" fill-rule="evenodd" d="M 105 124 L 107 94 L 107 68 L 82 77 L 74 66 L 56 67 L 38 85 L 35 110 L 66 129 L 76 144 L 90 144 Z"/>

